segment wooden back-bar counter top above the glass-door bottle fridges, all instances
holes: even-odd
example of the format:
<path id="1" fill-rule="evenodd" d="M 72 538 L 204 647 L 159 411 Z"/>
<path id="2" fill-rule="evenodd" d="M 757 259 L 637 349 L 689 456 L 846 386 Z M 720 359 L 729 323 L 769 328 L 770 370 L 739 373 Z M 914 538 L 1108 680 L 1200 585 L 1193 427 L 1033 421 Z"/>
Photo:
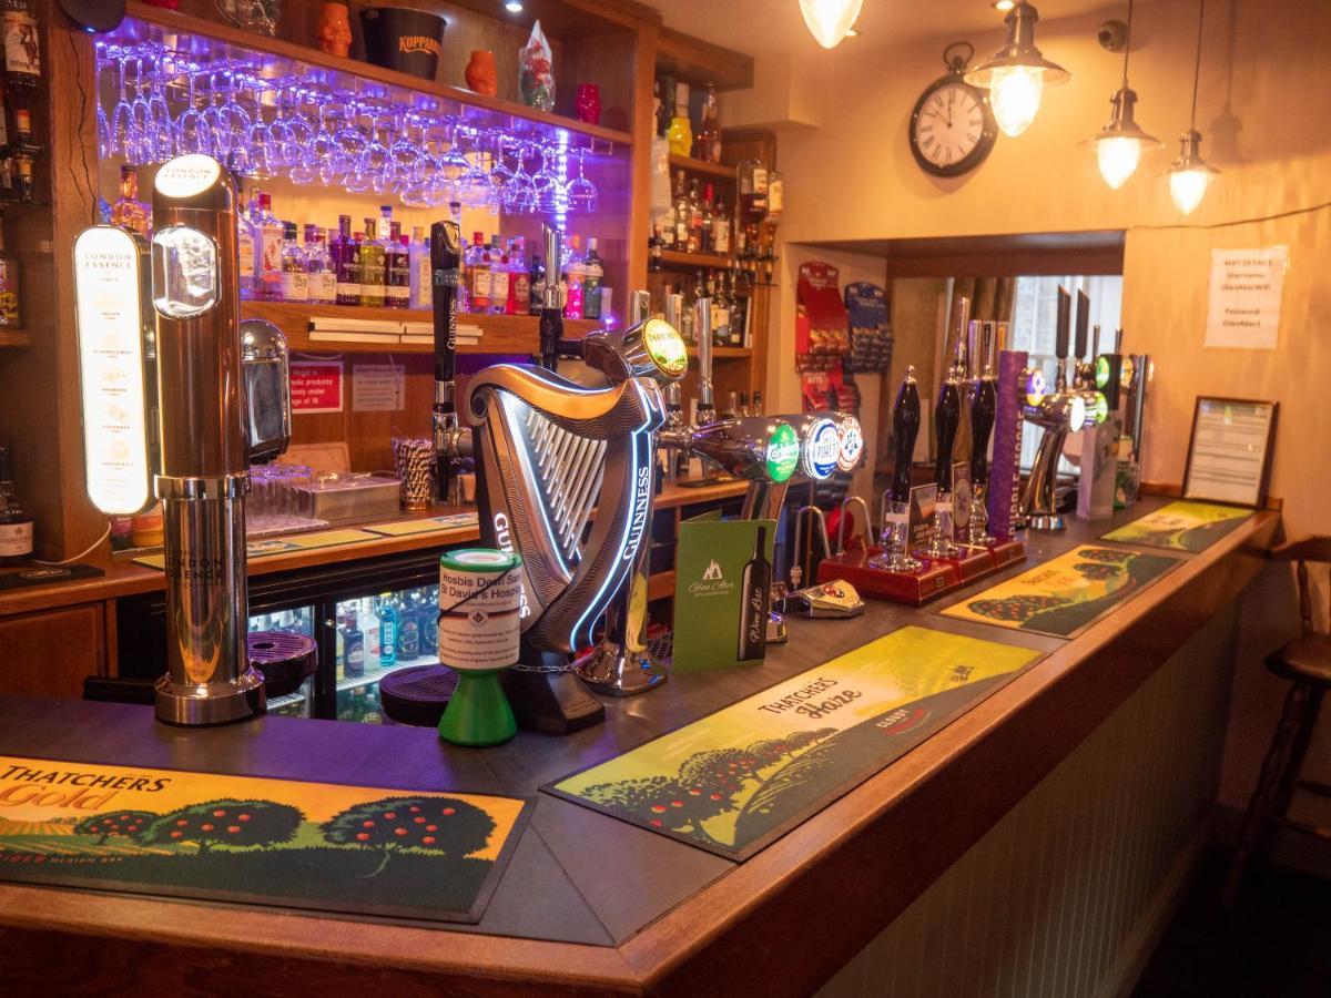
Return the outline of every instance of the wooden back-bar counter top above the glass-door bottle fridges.
<path id="1" fill-rule="evenodd" d="M 695 503 L 708 503 L 717 499 L 731 499 L 744 494 L 744 482 L 708 482 L 697 486 L 667 484 L 655 499 L 655 510 L 673 510 Z M 474 512 L 475 507 L 438 506 L 418 514 L 401 514 L 393 516 L 371 516 L 365 520 L 349 523 L 335 523 L 325 530 L 342 530 L 366 527 L 387 522 L 401 522 L 410 519 L 423 519 L 427 516 L 443 516 L 453 512 Z M 409 536 L 377 536 L 355 544 L 342 544 L 338 547 L 310 548 L 307 551 L 289 551 L 249 560 L 249 575 L 252 578 L 272 575 L 273 572 L 291 572 L 302 568 L 317 568 L 318 566 L 337 564 L 341 562 L 357 562 L 383 555 L 401 555 L 413 551 L 429 551 L 431 548 L 449 548 L 458 544 L 470 544 L 480 538 L 475 527 L 462 530 L 437 531 L 431 534 L 415 534 Z M 59 607 L 69 607 L 79 603 L 96 603 L 98 600 L 118 599 L 120 596 L 137 596 L 144 592 L 160 592 L 165 588 L 165 575 L 149 566 L 138 564 L 133 555 L 124 552 L 105 562 L 96 562 L 105 575 L 92 579 L 73 579 L 69 582 L 52 583 L 49 585 L 27 585 L 17 589 L 0 592 L 0 617 L 16 613 L 35 613 Z"/>

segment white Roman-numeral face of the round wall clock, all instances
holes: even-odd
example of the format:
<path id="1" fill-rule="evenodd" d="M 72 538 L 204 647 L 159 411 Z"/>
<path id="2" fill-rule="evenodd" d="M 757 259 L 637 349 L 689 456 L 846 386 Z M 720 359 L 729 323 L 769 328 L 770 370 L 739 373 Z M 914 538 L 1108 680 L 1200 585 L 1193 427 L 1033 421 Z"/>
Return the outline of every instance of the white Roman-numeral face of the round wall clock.
<path id="1" fill-rule="evenodd" d="M 996 134 L 984 92 L 957 76 L 934 81 L 910 114 L 910 152 L 936 177 L 973 170 L 989 156 Z"/>

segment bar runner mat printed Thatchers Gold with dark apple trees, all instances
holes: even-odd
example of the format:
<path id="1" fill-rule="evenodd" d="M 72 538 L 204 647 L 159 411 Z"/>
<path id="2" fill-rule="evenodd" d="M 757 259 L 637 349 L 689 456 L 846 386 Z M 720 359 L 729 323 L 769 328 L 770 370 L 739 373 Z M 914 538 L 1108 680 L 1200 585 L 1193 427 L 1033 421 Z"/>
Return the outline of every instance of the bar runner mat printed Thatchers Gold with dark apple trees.
<path id="1" fill-rule="evenodd" d="M 0 756 L 0 880 L 478 922 L 531 808 Z"/>

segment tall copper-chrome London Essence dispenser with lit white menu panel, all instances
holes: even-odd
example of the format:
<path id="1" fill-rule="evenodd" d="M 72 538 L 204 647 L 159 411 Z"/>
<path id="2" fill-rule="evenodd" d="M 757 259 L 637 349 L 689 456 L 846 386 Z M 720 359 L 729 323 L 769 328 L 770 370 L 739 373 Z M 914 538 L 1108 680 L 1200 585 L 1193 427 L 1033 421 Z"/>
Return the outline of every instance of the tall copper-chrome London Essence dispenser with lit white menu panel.
<path id="1" fill-rule="evenodd" d="M 178 157 L 157 172 L 153 216 L 150 303 L 142 275 L 133 279 L 133 237 L 95 226 L 75 242 L 88 488 L 98 508 L 133 512 L 149 502 L 140 483 L 156 472 L 168 640 L 157 717 L 222 724 L 265 709 L 264 676 L 245 652 L 249 442 L 236 186 L 212 157 Z M 125 277 L 120 295 L 97 269 L 112 258 Z M 136 366 L 156 369 L 156 391 L 146 374 L 132 390 Z M 102 385 L 125 391 L 110 397 Z M 117 456 L 132 471 L 113 472 Z"/>

